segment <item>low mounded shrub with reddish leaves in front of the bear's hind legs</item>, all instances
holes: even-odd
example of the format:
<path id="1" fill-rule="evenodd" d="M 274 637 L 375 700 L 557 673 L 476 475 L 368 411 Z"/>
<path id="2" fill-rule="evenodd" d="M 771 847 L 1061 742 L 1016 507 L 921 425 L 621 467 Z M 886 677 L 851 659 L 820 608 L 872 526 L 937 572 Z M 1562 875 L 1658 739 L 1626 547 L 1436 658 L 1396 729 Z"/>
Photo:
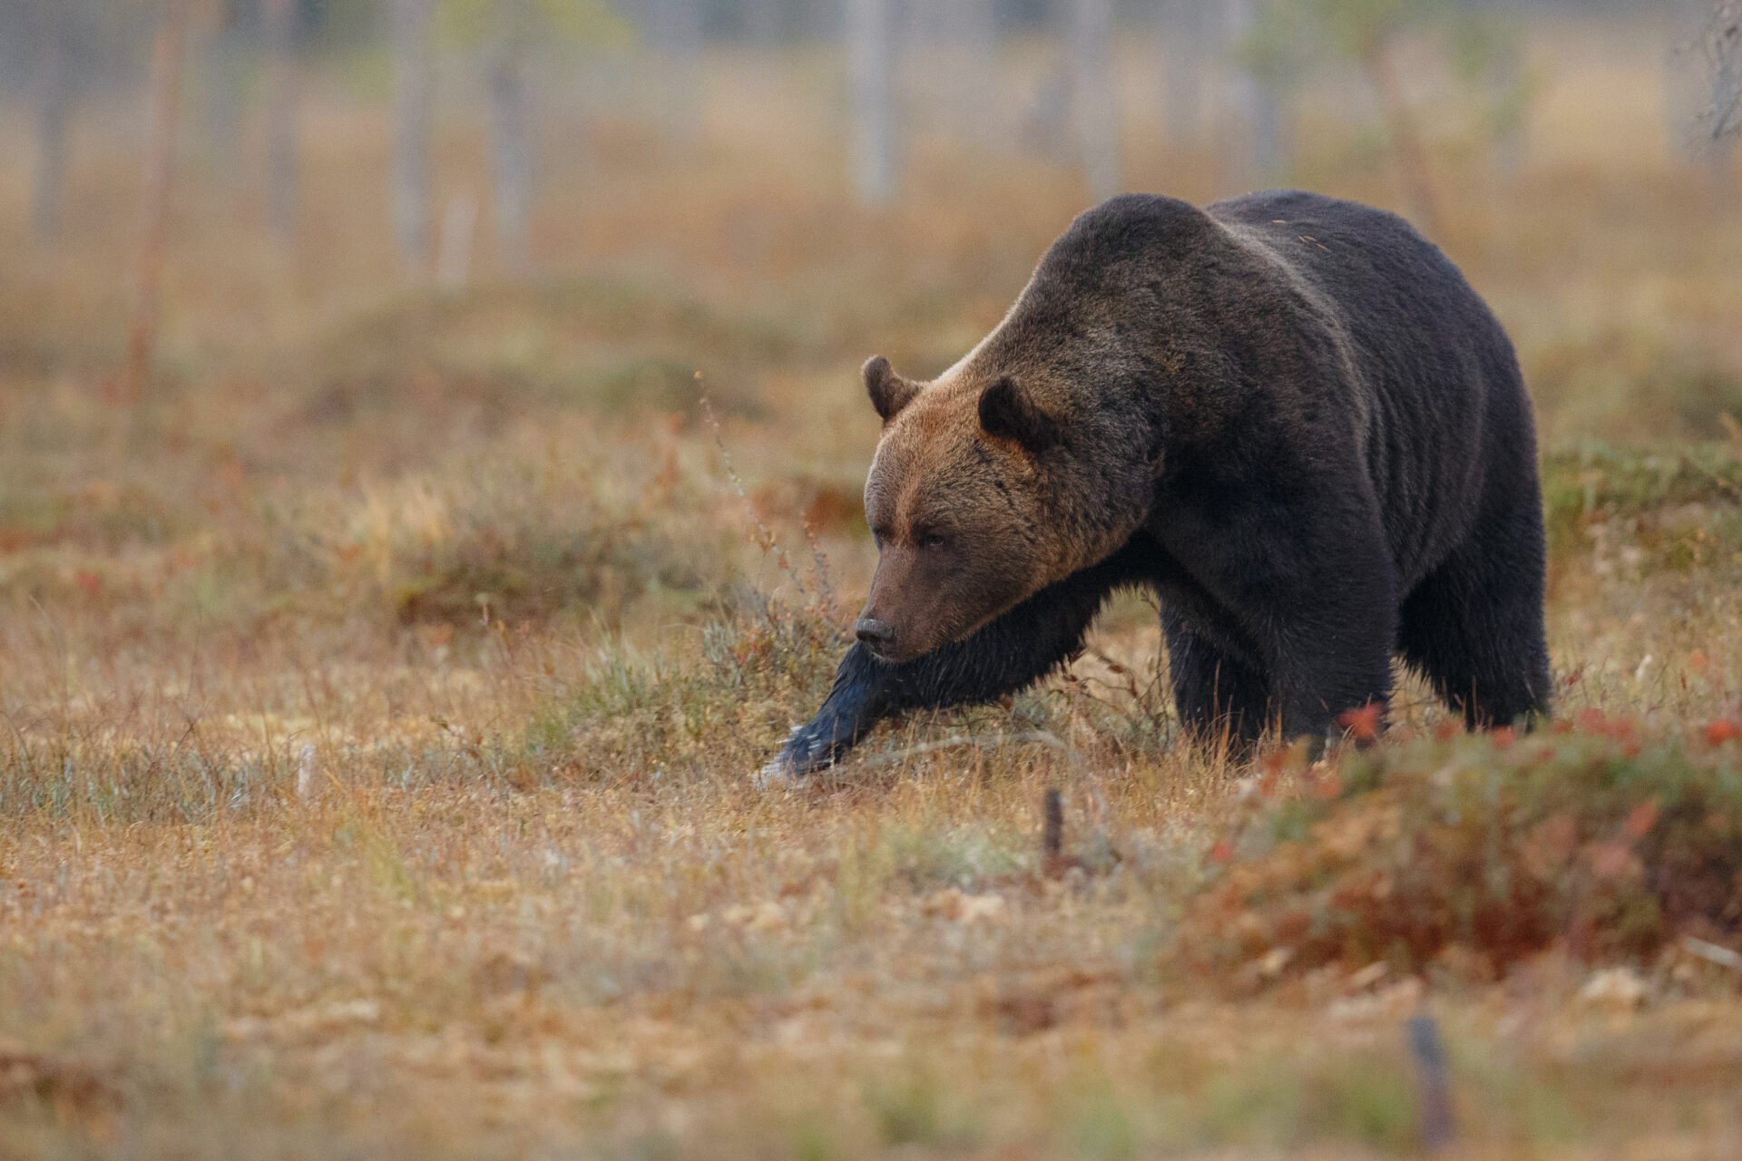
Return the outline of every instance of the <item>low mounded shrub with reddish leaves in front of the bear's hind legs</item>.
<path id="1" fill-rule="evenodd" d="M 1629 722 L 1357 754 L 1218 844 L 1178 956 L 1275 978 L 1331 963 L 1482 975 L 1564 949 L 1655 954 L 1742 935 L 1742 748 L 1733 729 L 1641 742 Z M 1266 776 L 1280 785 L 1279 769 Z M 1244 971 L 1242 971 L 1244 970 Z"/>

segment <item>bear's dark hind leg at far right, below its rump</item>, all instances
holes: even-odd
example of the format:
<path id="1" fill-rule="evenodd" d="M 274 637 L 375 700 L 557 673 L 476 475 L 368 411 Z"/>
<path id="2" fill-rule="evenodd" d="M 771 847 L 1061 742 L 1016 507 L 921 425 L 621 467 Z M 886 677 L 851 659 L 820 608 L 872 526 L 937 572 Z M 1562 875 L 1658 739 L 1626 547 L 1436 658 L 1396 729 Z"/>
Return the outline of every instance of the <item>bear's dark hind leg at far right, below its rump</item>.
<path id="1" fill-rule="evenodd" d="M 1531 503 L 1482 520 L 1402 604 L 1399 651 L 1465 728 L 1531 724 L 1549 714 L 1542 623 L 1542 517 Z"/>

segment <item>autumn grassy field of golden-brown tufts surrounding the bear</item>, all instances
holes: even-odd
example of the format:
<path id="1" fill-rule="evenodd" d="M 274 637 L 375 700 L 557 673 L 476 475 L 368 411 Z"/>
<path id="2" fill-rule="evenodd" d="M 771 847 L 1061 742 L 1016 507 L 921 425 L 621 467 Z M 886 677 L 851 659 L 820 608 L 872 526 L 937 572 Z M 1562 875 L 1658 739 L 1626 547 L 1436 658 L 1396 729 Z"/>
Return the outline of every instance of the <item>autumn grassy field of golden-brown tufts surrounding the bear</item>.
<path id="1" fill-rule="evenodd" d="M 0 1158 L 1411 1154 L 1420 1013 L 1453 1156 L 1742 1156 L 1742 214 L 1629 30 L 1545 45 L 1526 167 L 1451 115 L 1435 162 L 1538 402 L 1559 715 L 1406 682 L 1319 766 L 1178 747 L 1127 599 L 1014 705 L 753 787 L 874 562 L 855 367 L 995 324 L 1068 169 L 922 136 L 859 211 L 820 64 L 721 59 L 686 148 L 552 160 L 547 273 L 484 238 L 437 294 L 385 115 L 322 101 L 294 256 L 190 153 L 124 409 L 127 153 L 54 251 L 7 167 Z M 1395 205 L 1334 99 L 1298 181 Z"/>

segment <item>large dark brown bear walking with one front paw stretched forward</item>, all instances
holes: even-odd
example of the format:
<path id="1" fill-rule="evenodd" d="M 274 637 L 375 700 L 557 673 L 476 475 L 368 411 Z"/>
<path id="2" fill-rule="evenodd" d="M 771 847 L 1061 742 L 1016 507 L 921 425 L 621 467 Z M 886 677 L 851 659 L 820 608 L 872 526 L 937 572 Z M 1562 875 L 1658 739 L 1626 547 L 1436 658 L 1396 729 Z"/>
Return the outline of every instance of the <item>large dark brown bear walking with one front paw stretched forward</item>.
<path id="1" fill-rule="evenodd" d="M 1129 195 L 1052 244 L 883 435 L 859 644 L 770 775 L 991 701 L 1155 590 L 1190 735 L 1334 736 L 1392 656 L 1470 728 L 1549 710 L 1531 406 L 1505 331 L 1401 218 L 1313 193 Z"/>

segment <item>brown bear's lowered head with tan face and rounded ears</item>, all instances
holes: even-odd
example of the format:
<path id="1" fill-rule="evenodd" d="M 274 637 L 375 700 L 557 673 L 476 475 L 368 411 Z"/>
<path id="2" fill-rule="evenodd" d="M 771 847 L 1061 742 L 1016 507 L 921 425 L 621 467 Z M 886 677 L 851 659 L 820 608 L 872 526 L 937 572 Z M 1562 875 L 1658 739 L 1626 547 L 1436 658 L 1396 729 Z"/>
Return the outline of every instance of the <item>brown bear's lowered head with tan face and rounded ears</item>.
<path id="1" fill-rule="evenodd" d="M 885 661 L 962 641 L 1077 564 L 1059 536 L 1064 430 L 1016 376 L 970 357 L 934 383 L 864 366 L 883 435 L 866 480 L 876 576 L 859 639 Z"/>

